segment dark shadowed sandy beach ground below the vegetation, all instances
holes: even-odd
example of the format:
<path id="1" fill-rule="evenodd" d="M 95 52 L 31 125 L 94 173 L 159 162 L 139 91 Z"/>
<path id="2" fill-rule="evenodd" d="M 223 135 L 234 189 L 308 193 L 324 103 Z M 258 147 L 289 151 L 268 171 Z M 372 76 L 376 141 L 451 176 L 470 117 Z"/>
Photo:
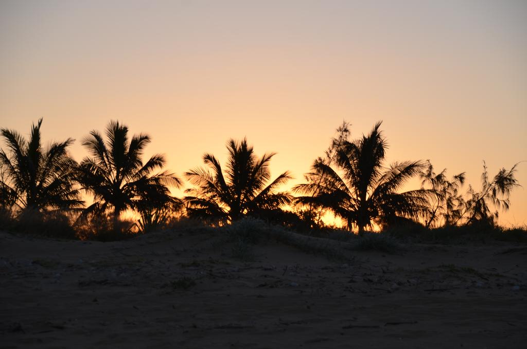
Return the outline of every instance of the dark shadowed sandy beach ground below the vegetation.
<path id="1" fill-rule="evenodd" d="M 0 232 L 0 347 L 527 347 L 527 246 L 331 260 L 219 232 L 113 243 Z"/>

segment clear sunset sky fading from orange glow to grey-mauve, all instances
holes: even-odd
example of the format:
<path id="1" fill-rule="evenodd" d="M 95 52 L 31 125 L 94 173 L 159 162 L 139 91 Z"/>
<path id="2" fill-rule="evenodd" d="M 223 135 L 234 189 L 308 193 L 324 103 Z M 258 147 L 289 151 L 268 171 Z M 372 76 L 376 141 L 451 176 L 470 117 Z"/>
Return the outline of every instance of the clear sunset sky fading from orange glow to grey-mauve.
<path id="1" fill-rule="evenodd" d="M 180 177 L 247 137 L 291 186 L 343 120 L 352 138 L 383 120 L 388 162 L 430 159 L 479 189 L 483 160 L 492 176 L 527 160 L 527 2 L 2 0 L 0 127 L 41 117 L 76 160 L 120 120 Z M 526 212 L 517 188 L 500 223 Z"/>

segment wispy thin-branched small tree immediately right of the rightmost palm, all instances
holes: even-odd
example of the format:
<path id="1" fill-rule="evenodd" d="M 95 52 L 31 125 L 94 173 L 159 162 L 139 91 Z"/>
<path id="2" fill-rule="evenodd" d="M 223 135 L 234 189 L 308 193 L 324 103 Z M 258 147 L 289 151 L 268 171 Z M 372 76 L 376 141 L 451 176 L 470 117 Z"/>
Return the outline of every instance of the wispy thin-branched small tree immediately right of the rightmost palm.
<path id="1" fill-rule="evenodd" d="M 465 183 L 465 172 L 458 173 L 452 177 L 452 180 L 446 178 L 446 169 L 440 173 L 434 172 L 434 167 L 430 160 L 426 161 L 426 168 L 419 173 L 421 177 L 421 188 L 430 185 L 430 189 L 435 196 L 432 199 L 431 215 L 425 221 L 425 227 L 430 228 L 432 224 L 441 224 L 445 226 L 453 225 L 462 216 L 462 208 L 465 201 L 458 193 L 458 190 Z"/>

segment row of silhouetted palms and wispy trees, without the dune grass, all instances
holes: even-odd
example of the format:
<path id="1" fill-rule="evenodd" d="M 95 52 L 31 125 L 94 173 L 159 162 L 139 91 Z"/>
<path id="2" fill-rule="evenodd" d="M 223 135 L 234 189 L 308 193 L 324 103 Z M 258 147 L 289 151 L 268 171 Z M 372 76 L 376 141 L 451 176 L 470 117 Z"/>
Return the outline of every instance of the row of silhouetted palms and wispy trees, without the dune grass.
<path id="1" fill-rule="evenodd" d="M 227 142 L 228 158 L 222 168 L 213 154 L 203 155 L 203 167 L 184 173 L 191 187 L 184 197 L 170 188 L 183 188 L 183 180 L 164 170 L 165 157 L 154 154 L 143 162 L 151 142 L 147 134 L 130 136 L 126 125 L 109 122 L 104 134 L 92 130 L 82 140 L 88 155 L 80 162 L 68 153 L 71 138 L 44 148 L 42 119 L 32 125 L 28 139 L 2 128 L 6 149 L 0 151 L 0 213 L 9 219 L 27 215 L 69 215 L 78 222 L 97 224 L 108 218 L 110 229 L 121 229 L 126 210 L 140 219 L 135 227 L 148 231 L 161 227 L 174 215 L 213 226 L 252 216 L 304 229 L 325 226 L 331 212 L 349 231 L 359 235 L 375 228 L 423 225 L 426 228 L 490 225 L 510 205 L 510 192 L 519 186 L 516 166 L 490 177 L 483 165 L 480 190 L 469 185 L 465 173 L 448 178 L 427 161 L 386 164 L 387 141 L 378 122 L 366 135 L 350 138 L 343 122 L 323 157 L 317 158 L 305 182 L 280 191 L 289 171 L 271 178 L 269 164 L 275 153 L 258 157 L 247 139 Z M 421 188 L 401 192 L 409 179 L 421 179 Z M 83 193 L 93 203 L 86 206 Z"/>

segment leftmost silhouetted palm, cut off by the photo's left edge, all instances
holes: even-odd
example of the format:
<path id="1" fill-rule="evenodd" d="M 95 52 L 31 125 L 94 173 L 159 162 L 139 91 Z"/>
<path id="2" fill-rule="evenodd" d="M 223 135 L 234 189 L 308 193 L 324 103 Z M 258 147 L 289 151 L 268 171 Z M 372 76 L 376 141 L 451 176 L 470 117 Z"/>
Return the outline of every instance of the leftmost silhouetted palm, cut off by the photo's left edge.
<path id="1" fill-rule="evenodd" d="M 28 140 L 14 130 L 0 131 L 8 149 L 0 150 L 2 205 L 16 206 L 22 213 L 80 208 L 84 201 L 75 186 L 77 163 L 67 153 L 73 139 L 43 149 L 41 125 L 42 118 L 32 125 Z"/>

